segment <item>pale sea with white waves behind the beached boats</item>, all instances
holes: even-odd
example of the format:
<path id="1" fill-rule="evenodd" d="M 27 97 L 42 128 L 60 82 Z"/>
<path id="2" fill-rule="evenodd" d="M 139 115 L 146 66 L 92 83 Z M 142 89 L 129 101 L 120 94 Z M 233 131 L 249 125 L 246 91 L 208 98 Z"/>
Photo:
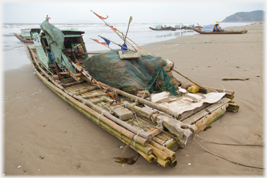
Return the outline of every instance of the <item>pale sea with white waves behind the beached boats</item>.
<path id="1" fill-rule="evenodd" d="M 222 29 L 227 27 L 234 26 L 245 26 L 248 23 L 221 23 L 220 26 Z M 107 47 L 104 47 L 102 44 L 99 44 L 92 39 L 99 40 L 99 42 L 104 42 L 102 38 L 98 35 L 101 35 L 112 42 L 117 44 L 123 44 L 121 38 L 111 30 L 110 27 L 106 26 L 106 24 L 53 24 L 59 29 L 74 29 L 77 31 L 84 31 L 83 40 L 86 43 L 87 51 L 99 51 L 106 50 Z M 109 24 L 118 29 L 118 31 L 126 34 L 128 24 Z M 152 31 L 149 29 L 149 26 L 155 28 L 157 24 L 130 24 L 129 31 L 127 33 L 127 37 L 130 38 L 133 42 L 142 46 L 144 44 L 152 43 L 152 42 L 160 42 L 165 40 L 170 40 L 173 38 L 177 38 L 182 35 L 195 35 L 197 34 L 192 30 L 177 30 L 177 31 Z M 175 27 L 176 24 L 165 24 L 166 26 Z M 184 24 L 185 26 L 191 24 Z M 197 25 L 197 24 L 195 24 Z M 207 24 L 200 24 L 201 26 Z M 20 34 L 21 29 L 32 29 L 32 28 L 40 28 L 38 24 L 2 24 L 2 50 L 6 51 L 9 49 L 14 49 L 17 47 L 22 47 L 24 45 L 23 42 L 20 42 L 13 33 Z M 117 44 L 113 44 L 111 42 L 110 47 L 112 49 L 120 48 Z M 109 49 L 108 49 L 109 50 Z"/>

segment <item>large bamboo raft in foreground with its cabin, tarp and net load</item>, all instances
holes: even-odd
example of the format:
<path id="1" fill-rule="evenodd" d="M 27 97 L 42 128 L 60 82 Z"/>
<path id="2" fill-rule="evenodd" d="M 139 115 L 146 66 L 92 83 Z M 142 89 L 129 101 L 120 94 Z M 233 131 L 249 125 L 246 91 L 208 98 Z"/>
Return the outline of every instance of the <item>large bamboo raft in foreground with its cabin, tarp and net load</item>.
<path id="1" fill-rule="evenodd" d="M 238 112 L 234 91 L 200 86 L 188 78 L 192 83 L 178 81 L 171 60 L 143 50 L 88 56 L 83 31 L 60 31 L 48 20 L 41 28 L 36 50 L 27 45 L 35 74 L 149 163 L 175 167 L 177 149 L 226 111 Z"/>

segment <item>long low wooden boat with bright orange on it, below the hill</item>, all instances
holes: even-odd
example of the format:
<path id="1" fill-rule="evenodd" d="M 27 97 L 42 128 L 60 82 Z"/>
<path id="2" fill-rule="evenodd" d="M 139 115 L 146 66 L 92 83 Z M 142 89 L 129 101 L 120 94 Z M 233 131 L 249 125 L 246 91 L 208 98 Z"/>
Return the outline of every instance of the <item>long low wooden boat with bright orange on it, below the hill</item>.
<path id="1" fill-rule="evenodd" d="M 219 24 L 211 24 L 207 26 L 203 26 L 202 29 L 194 28 L 193 31 L 200 33 L 200 34 L 242 34 L 247 33 L 248 31 L 226 31 L 224 29 L 221 29 Z"/>

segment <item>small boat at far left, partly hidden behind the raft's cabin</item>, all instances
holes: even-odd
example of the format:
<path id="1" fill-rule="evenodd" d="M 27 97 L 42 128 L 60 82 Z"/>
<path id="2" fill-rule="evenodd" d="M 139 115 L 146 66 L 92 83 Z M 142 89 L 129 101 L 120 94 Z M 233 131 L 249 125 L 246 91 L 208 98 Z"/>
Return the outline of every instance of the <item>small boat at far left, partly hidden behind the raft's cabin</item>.
<path id="1" fill-rule="evenodd" d="M 17 39 L 22 42 L 33 43 L 34 35 L 40 34 L 41 29 L 22 29 L 21 32 L 22 34 L 19 35 L 17 35 L 17 33 L 14 33 Z"/>

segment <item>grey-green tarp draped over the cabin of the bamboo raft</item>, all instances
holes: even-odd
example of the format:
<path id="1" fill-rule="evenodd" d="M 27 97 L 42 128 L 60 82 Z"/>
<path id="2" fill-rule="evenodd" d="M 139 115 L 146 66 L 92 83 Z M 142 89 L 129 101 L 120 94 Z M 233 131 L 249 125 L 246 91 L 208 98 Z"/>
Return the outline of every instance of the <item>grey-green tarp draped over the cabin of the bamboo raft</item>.
<path id="1" fill-rule="evenodd" d="M 53 58 L 58 64 L 58 67 L 60 67 L 61 70 L 67 68 L 67 70 L 70 70 L 72 73 L 76 74 L 72 64 L 69 62 L 69 60 L 67 60 L 67 57 L 62 52 L 62 47 L 64 44 L 64 34 L 62 31 L 60 31 L 60 29 L 58 29 L 56 26 L 49 24 L 47 20 L 44 20 L 40 27 L 42 29 L 42 33 L 44 33 L 45 37 L 47 38 Z"/>

